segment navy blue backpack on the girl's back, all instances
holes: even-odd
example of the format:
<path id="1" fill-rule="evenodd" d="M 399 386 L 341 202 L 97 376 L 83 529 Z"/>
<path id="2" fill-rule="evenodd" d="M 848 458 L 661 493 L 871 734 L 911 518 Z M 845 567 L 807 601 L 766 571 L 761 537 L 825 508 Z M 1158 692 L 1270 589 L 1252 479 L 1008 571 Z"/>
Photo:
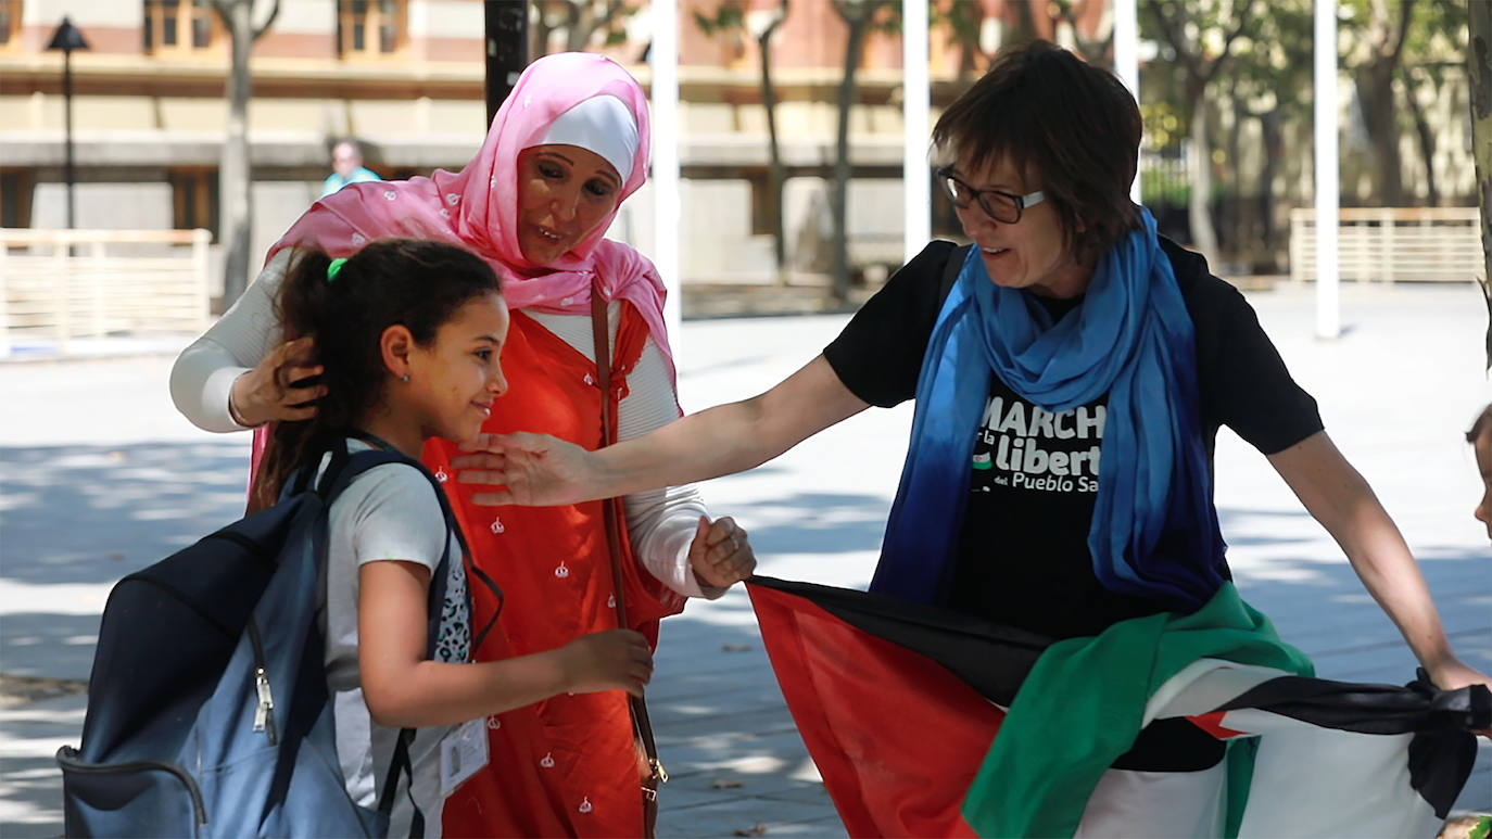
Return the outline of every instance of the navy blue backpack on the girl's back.
<path id="1" fill-rule="evenodd" d="M 63 747 L 67 836 L 385 836 L 413 729 L 397 738 L 377 809 L 346 793 L 324 641 L 327 511 L 354 477 L 407 463 L 397 452 L 331 449 L 279 502 L 130 574 L 98 629 L 82 748 Z M 461 542 L 464 548 L 464 541 Z M 451 539 L 431 575 L 431 650 Z M 461 562 L 461 557 L 457 557 Z M 410 835 L 424 833 L 416 809 Z"/>

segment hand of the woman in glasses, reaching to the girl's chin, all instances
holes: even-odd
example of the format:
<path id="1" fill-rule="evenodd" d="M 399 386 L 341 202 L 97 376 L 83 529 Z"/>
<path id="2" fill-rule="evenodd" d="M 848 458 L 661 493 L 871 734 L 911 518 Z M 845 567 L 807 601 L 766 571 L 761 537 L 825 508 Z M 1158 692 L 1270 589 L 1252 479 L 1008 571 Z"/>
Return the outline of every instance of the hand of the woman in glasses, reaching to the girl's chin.
<path id="1" fill-rule="evenodd" d="M 461 444 L 464 455 L 451 459 L 457 480 L 497 489 L 477 492 L 473 504 L 500 507 L 557 507 L 597 498 L 591 453 L 548 434 L 480 434 Z"/>

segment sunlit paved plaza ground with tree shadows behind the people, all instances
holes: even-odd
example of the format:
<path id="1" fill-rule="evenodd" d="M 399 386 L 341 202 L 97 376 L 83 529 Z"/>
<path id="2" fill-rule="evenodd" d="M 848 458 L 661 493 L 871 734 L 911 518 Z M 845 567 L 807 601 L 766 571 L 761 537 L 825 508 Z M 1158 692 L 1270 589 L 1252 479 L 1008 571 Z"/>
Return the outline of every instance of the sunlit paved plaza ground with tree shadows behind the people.
<path id="1" fill-rule="evenodd" d="M 1310 288 L 1250 292 L 1326 428 L 1419 556 L 1461 654 L 1492 671 L 1492 547 L 1461 435 L 1492 399 L 1486 308 L 1464 286 L 1344 286 L 1344 335 L 1313 338 Z M 691 320 L 680 395 L 700 410 L 759 392 L 846 316 Z M 248 438 L 181 419 L 170 355 L 0 364 L 0 836 L 61 835 L 52 753 L 76 744 L 109 587 L 234 519 Z M 759 571 L 862 587 L 906 452 L 910 407 L 871 410 L 745 475 L 709 481 Z M 1216 501 L 1243 595 L 1326 678 L 1404 683 L 1414 662 L 1329 536 L 1256 452 L 1219 435 Z M 782 705 L 746 595 L 664 623 L 649 691 L 673 781 L 661 836 L 843 836 Z M 1459 805 L 1492 808 L 1492 745 Z"/>

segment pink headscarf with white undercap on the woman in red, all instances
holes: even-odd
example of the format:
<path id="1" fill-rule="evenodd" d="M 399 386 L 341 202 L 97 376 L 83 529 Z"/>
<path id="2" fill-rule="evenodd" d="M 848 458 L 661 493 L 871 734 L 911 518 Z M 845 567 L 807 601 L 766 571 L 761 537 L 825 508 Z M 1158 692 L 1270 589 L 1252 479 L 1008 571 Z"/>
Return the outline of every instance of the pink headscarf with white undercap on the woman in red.
<path id="1" fill-rule="evenodd" d="M 642 313 L 671 374 L 662 280 L 646 256 L 604 238 L 616 210 L 552 265 L 534 265 L 518 246 L 518 152 L 539 145 L 560 115 L 598 95 L 621 100 L 637 122 L 637 152 L 621 189 L 621 209 L 648 177 L 648 98 L 637 80 L 610 58 L 562 52 L 524 70 L 466 168 L 343 186 L 306 210 L 270 247 L 269 256 L 301 244 L 351 256 L 367 241 L 395 235 L 452 241 L 492 265 L 510 307 L 558 314 L 589 314 L 591 282 L 600 276 L 607 301 L 627 300 Z"/>

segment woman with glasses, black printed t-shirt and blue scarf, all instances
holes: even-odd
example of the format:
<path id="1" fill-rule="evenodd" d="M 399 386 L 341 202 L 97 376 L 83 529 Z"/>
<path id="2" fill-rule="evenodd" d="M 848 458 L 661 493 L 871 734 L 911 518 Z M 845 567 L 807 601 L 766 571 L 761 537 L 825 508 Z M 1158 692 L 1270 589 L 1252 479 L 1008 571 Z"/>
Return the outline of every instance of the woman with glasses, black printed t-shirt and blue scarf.
<path id="1" fill-rule="evenodd" d="M 486 438 L 463 480 L 516 504 L 695 481 L 916 399 L 871 590 L 1067 639 L 1232 596 L 1212 498 L 1226 425 L 1331 532 L 1438 687 L 1486 683 L 1452 651 L 1397 526 L 1243 295 L 1129 200 L 1140 133 L 1110 73 L 1050 43 L 1001 54 L 932 133 L 971 246 L 928 244 L 765 393 L 601 452 Z M 1222 757 L 1177 718 L 1112 766 L 1164 773 L 1165 799 L 1194 803 L 1146 835 L 1200 836 L 1216 835 Z"/>

